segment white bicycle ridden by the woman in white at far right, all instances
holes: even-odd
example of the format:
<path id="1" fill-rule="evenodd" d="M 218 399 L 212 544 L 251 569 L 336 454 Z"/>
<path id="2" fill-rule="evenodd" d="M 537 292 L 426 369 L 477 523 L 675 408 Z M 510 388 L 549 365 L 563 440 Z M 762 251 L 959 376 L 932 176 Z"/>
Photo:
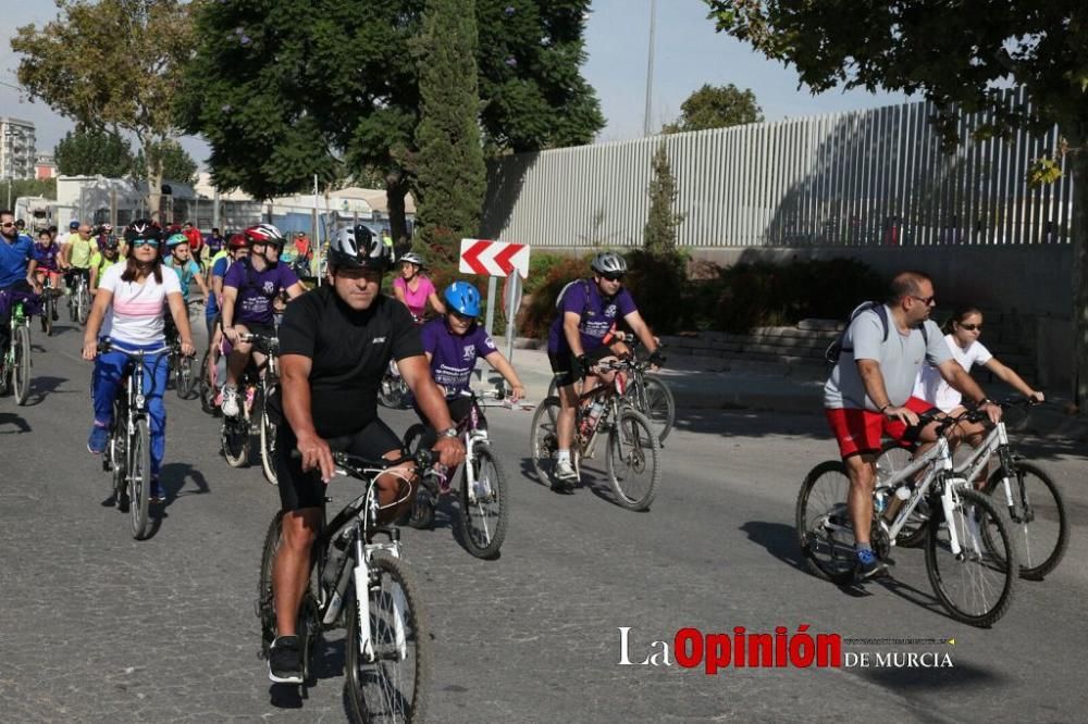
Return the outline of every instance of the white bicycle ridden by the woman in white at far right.
<path id="1" fill-rule="evenodd" d="M 1000 404 L 1003 410 L 1010 410 L 1031 403 L 1028 399 L 1017 399 Z M 998 458 L 998 466 L 986 476 L 993 455 Z M 877 459 L 878 479 L 890 478 L 912 460 L 913 453 L 906 448 L 886 444 Z M 1058 567 L 1070 542 L 1061 488 L 1044 470 L 1026 462 L 1013 449 L 1004 420 L 990 429 L 978 448 L 955 464 L 954 472 L 968 480 L 986 476 L 978 489 L 1005 503 L 1011 522 L 1021 532 L 1016 540 L 1022 578 L 1041 581 Z M 918 545 L 925 537 L 928 519 L 928 508 L 919 505 L 897 542 L 900 546 Z"/>

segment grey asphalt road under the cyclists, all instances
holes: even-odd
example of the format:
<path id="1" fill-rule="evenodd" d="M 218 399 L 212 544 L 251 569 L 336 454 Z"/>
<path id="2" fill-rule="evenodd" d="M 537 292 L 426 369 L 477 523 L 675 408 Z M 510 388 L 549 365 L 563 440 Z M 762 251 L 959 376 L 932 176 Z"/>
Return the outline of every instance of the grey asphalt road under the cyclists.
<path id="1" fill-rule="evenodd" d="M 108 478 L 85 448 L 89 365 L 79 336 L 35 338 L 35 394 L 0 400 L 0 720 L 11 722 L 344 719 L 343 639 L 331 636 L 309 698 L 271 687 L 254 616 L 260 545 L 277 508 L 259 467 L 218 453 L 217 424 L 168 398 L 156 535 L 133 541 L 102 507 Z M 454 540 L 448 516 L 408 530 L 433 632 L 436 722 L 507 721 L 1085 721 L 1088 650 L 1084 449 L 1035 449 L 1064 484 L 1075 523 L 1063 565 L 1021 586 L 989 631 L 939 608 L 919 551 L 895 581 L 849 592 L 803 572 L 794 547 L 798 485 L 833 454 L 818 415 L 687 411 L 669 439 L 654 509 L 607 494 L 556 496 L 527 474 L 531 414 L 495 410 L 493 437 L 512 478 L 510 532 L 497 561 Z M 388 413 L 398 429 L 408 413 Z M 603 475 L 591 476 L 604 483 Z M 342 500 L 350 484 L 331 488 Z M 445 509 L 446 513 L 449 508 Z M 955 645 L 852 646 L 948 653 L 951 669 L 621 666 L 682 627 L 954 638 Z"/>

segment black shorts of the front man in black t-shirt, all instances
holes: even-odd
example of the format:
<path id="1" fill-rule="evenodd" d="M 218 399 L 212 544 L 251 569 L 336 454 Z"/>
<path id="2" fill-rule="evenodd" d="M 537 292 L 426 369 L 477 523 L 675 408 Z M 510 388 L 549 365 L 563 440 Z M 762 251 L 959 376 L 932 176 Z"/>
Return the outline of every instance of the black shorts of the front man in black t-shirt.
<path id="1" fill-rule="evenodd" d="M 394 450 L 404 454 L 400 438 L 378 417 L 362 429 L 351 435 L 330 438 L 327 442 L 334 452 L 350 452 L 370 460 L 381 460 Z M 280 503 L 283 510 L 290 511 L 324 508 L 325 484 L 321 482 L 321 473 L 316 470 L 302 472 L 302 461 L 290 457 L 297 445 L 298 438 L 290 425 L 276 427 L 275 474 L 280 487 Z"/>

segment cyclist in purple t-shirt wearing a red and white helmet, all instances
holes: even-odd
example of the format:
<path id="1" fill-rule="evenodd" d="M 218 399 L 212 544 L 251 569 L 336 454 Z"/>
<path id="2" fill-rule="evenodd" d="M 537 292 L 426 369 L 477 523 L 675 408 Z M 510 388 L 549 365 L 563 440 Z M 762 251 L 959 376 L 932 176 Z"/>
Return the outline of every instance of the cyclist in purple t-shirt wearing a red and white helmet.
<path id="1" fill-rule="evenodd" d="M 246 371 L 252 344 L 239 335 L 275 336 L 272 301 L 281 291 L 290 299 L 306 289 L 286 264 L 280 263 L 283 235 L 271 224 L 251 226 L 245 232 L 249 255 L 232 264 L 223 277 L 223 335 L 234 346 L 226 363 L 223 385 L 223 414 L 238 414 L 238 377 Z M 263 357 L 263 355 L 261 355 Z"/>

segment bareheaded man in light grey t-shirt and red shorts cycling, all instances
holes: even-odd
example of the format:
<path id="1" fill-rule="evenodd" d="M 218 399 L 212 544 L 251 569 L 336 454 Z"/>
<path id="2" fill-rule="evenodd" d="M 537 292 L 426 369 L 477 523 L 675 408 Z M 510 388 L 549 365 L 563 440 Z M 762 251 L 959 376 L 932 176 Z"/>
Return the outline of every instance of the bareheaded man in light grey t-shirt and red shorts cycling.
<path id="1" fill-rule="evenodd" d="M 846 508 L 854 526 L 860 578 L 886 572 L 869 540 L 881 433 L 908 446 L 928 446 L 937 439 L 938 423 L 918 424 L 918 415 L 932 405 L 912 396 L 923 361 L 975 400 L 992 422 L 1001 420 L 1001 408 L 987 399 L 953 359 L 940 329 L 929 321 L 936 303 L 929 276 L 922 272 L 895 275 L 882 309 L 866 309 L 850 322 L 842 352 L 824 385 L 824 412 L 850 477 Z"/>

